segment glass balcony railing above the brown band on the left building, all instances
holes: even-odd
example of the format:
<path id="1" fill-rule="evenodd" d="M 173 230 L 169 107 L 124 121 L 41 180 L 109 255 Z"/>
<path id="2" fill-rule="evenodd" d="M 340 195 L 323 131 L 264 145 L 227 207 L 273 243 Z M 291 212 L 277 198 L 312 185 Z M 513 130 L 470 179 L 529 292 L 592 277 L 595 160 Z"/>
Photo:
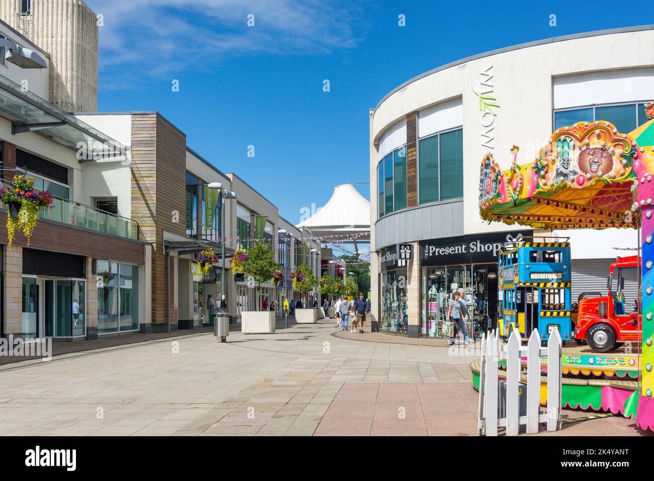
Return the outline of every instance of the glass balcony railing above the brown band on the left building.
<path id="1" fill-rule="evenodd" d="M 41 209 L 39 217 L 126 239 L 137 240 L 139 236 L 137 221 L 57 196 L 52 196 L 52 206 Z"/>

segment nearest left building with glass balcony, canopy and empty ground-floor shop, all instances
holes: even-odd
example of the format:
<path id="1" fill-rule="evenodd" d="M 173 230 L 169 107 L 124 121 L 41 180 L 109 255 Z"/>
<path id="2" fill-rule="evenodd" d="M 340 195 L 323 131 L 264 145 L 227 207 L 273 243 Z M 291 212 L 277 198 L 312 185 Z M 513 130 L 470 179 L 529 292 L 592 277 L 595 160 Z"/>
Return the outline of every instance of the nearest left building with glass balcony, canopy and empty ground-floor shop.
<path id="1" fill-rule="evenodd" d="M 138 332 L 150 322 L 152 247 L 129 218 L 128 148 L 48 102 L 47 54 L 1 22 L 0 35 L 2 179 L 32 177 L 53 195 L 29 245 L 16 232 L 9 247 L 0 210 L 0 336 Z M 128 174 L 115 177 L 117 166 Z"/>

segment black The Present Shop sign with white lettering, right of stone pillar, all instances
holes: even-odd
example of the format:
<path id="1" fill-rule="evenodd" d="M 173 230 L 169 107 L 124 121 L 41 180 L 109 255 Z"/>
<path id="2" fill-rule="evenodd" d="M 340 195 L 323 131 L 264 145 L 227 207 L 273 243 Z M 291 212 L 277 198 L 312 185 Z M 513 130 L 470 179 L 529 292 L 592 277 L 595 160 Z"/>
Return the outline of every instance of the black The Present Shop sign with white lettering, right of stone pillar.
<path id="1" fill-rule="evenodd" d="M 420 260 L 423 266 L 450 266 L 452 264 L 475 264 L 497 262 L 500 249 L 507 242 L 530 238 L 533 230 L 470 234 L 420 243 Z"/>

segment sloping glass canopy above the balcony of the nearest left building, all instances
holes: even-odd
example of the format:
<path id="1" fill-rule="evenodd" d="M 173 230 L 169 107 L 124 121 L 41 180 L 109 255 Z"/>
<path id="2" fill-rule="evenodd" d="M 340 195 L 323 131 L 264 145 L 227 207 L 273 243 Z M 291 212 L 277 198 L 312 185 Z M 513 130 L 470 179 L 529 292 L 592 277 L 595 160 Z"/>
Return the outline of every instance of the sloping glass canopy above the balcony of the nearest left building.
<path id="1" fill-rule="evenodd" d="M 12 122 L 12 134 L 43 135 L 77 152 L 80 163 L 128 159 L 128 149 L 122 143 L 3 75 L 0 75 L 0 115 Z"/>

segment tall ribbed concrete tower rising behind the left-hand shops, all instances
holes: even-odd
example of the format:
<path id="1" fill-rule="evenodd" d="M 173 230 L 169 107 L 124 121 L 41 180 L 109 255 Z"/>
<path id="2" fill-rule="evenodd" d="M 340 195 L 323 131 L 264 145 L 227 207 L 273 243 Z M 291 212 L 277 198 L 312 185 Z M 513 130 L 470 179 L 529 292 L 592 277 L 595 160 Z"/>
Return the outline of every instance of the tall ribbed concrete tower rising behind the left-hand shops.
<path id="1" fill-rule="evenodd" d="M 0 18 L 50 57 L 48 95 L 31 92 L 66 112 L 97 110 L 97 16 L 86 3 L 0 0 Z"/>

